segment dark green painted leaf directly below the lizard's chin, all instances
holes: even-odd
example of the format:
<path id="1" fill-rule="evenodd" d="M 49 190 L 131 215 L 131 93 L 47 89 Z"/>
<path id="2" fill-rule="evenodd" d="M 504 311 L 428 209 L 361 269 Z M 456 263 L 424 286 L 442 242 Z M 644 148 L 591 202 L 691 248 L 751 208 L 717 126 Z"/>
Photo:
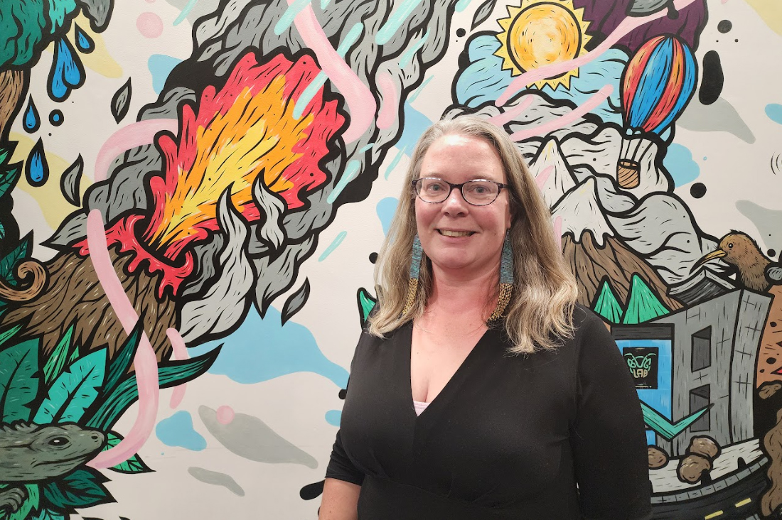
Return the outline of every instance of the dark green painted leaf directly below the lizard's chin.
<path id="1" fill-rule="evenodd" d="M 62 479 L 49 482 L 43 494 L 54 507 L 75 513 L 76 507 L 92 507 L 115 501 L 102 484 L 108 480 L 95 470 L 80 468 Z"/>

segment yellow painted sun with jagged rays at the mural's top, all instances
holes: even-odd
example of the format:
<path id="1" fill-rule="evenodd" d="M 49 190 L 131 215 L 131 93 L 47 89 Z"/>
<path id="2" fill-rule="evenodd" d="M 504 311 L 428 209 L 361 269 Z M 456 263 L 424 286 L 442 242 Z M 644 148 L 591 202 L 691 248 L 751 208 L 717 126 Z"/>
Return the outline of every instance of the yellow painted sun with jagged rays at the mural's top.
<path id="1" fill-rule="evenodd" d="M 508 5 L 508 18 L 497 20 L 503 32 L 497 34 L 502 69 L 518 76 L 528 70 L 573 59 L 583 54 L 590 41 L 589 22 L 583 19 L 583 7 L 572 0 L 522 0 L 518 7 Z M 570 88 L 570 78 L 578 77 L 578 68 L 533 83 L 537 88 L 560 84 Z"/>

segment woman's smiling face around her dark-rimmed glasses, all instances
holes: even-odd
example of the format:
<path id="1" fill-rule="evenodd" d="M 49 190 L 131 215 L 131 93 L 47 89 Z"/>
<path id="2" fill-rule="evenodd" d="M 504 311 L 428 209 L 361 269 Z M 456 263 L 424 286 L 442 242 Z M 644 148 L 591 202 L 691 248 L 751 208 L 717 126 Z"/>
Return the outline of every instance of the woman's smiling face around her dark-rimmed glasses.
<path id="1" fill-rule="evenodd" d="M 475 179 L 507 182 L 497 150 L 482 138 L 460 134 L 432 143 L 420 176 L 452 184 Z M 468 204 L 456 188 L 442 203 L 426 203 L 417 196 L 415 220 L 421 246 L 436 271 L 461 279 L 497 271 L 505 231 L 511 228 L 508 188 L 487 206 Z"/>

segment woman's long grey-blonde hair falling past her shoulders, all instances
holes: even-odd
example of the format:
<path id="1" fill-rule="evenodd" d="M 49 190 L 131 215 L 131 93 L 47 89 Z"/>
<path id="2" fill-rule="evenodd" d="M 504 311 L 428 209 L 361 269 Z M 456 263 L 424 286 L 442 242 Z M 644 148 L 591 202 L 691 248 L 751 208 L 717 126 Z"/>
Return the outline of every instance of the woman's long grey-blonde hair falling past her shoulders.
<path id="1" fill-rule="evenodd" d="M 402 313 L 407 299 L 413 238 L 417 232 L 415 192 L 411 185 L 421 174 L 421 162 L 429 147 L 447 134 L 482 138 L 493 145 L 510 185 L 512 221 L 509 232 L 515 282 L 511 302 L 505 309 L 505 332 L 512 343 L 511 353 L 556 348 L 572 337 L 572 310 L 578 293 L 576 279 L 562 259 L 561 246 L 551 228 L 551 213 L 516 145 L 502 128 L 473 116 L 441 120 L 418 140 L 407 168 L 399 205 L 375 264 L 379 306 L 369 318 L 370 334 L 382 337 L 424 313 L 427 297 L 432 292 L 432 267 L 425 253 L 415 303 L 411 310 Z M 499 258 L 497 260 L 499 276 Z M 485 317 L 488 317 L 492 311 L 490 302 L 486 303 L 486 308 Z"/>

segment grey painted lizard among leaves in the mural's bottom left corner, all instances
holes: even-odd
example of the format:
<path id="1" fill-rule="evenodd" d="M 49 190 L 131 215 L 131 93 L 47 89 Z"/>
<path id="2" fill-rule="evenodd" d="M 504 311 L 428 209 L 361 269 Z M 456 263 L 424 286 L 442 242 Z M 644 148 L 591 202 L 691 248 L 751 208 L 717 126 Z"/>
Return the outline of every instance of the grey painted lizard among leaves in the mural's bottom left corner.
<path id="1" fill-rule="evenodd" d="M 72 423 L 0 427 L 0 512 L 27 499 L 24 484 L 66 475 L 102 450 L 106 436 Z"/>

